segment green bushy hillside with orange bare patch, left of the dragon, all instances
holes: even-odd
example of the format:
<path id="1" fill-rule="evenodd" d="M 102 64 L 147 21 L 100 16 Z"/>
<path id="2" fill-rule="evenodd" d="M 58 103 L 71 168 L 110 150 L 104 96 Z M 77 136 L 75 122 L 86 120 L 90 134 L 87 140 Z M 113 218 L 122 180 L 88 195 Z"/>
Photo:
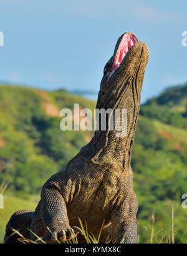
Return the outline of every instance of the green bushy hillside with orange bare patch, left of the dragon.
<path id="1" fill-rule="evenodd" d="M 71 96 L 66 91 L 0 87 L 0 170 L 2 180 L 12 180 L 16 193 L 38 193 L 50 175 L 64 169 L 92 134 L 60 130 L 60 110 L 93 109 L 95 102 Z"/>

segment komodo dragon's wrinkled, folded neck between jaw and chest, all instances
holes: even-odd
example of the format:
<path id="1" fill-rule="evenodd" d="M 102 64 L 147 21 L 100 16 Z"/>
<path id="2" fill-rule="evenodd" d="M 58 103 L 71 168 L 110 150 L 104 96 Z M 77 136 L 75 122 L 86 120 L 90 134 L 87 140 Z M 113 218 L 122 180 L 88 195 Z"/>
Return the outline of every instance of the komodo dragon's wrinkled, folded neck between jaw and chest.
<path id="1" fill-rule="evenodd" d="M 91 159 L 95 162 L 112 162 L 123 170 L 131 168 L 132 146 L 140 111 L 140 96 L 133 91 L 134 87 L 133 83 L 130 84 L 125 99 L 122 97 L 115 105 L 114 116 L 116 109 L 119 112 L 118 118 L 113 118 L 114 129 L 111 130 L 108 126 L 106 130 L 95 131 L 90 142 Z M 107 120 L 106 123 L 108 123 Z M 115 126 L 116 124 L 117 126 Z M 118 127 L 122 127 L 122 129 L 116 129 Z M 118 130 L 122 130 L 120 136 Z"/>

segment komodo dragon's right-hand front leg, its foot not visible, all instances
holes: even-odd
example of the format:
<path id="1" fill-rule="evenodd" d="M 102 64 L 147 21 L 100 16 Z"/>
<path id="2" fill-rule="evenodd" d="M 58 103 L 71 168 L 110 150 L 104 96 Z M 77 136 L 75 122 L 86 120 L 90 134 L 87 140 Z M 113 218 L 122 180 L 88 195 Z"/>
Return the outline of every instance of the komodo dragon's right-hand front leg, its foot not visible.
<path id="1" fill-rule="evenodd" d="M 138 202 L 135 193 L 118 200 L 112 211 L 112 243 L 137 243 Z"/>

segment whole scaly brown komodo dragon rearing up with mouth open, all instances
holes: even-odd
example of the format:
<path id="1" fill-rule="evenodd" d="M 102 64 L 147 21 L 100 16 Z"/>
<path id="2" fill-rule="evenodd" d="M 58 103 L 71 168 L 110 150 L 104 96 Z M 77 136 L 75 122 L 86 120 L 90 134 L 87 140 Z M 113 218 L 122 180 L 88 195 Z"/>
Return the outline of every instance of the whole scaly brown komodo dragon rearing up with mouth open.
<path id="1" fill-rule="evenodd" d="M 137 242 L 138 202 L 130 162 L 148 57 L 146 44 L 134 34 L 120 36 L 103 71 L 97 109 L 127 109 L 126 137 L 117 137 L 110 126 L 96 130 L 67 168 L 43 185 L 35 212 L 12 215 L 5 243 L 17 242 L 17 235 L 10 236 L 12 228 L 27 238 L 34 239 L 27 230 L 31 229 L 48 242 L 65 242 L 80 233 L 79 218 L 95 237 L 102 227 L 101 243 Z M 83 239 L 79 234 L 79 242 Z"/>

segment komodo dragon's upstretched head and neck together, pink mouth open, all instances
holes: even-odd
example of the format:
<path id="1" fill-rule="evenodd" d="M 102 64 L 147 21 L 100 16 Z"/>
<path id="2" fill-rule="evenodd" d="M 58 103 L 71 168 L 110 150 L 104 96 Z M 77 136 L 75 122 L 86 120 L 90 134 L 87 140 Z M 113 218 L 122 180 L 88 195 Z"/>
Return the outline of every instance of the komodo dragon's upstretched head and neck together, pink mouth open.
<path id="1" fill-rule="evenodd" d="M 131 150 L 140 110 L 141 87 L 148 57 L 146 44 L 139 42 L 134 34 L 126 32 L 118 39 L 113 56 L 104 67 L 96 109 L 104 109 L 105 112 L 112 110 L 115 118 L 113 119 L 110 112 L 105 116 L 97 116 L 97 139 L 93 141 L 97 142 L 96 156 L 99 160 L 108 162 L 108 159 L 113 159 L 112 162 L 116 161 L 118 168 L 120 163 L 122 169 L 130 168 Z M 115 112 L 119 114 L 115 115 Z M 105 130 L 102 129 L 102 124 L 107 124 Z M 115 129 L 110 129 L 112 124 Z"/>

